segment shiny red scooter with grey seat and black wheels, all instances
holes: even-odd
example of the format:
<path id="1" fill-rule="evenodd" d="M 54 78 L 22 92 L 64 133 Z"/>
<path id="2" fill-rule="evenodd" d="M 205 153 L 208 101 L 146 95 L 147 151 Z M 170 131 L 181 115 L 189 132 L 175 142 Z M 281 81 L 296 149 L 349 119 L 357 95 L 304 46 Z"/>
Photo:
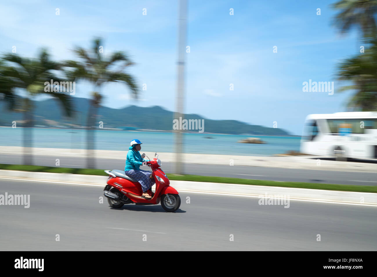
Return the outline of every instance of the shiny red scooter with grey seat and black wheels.
<path id="1" fill-rule="evenodd" d="M 142 158 L 145 154 L 141 155 Z M 157 156 L 158 158 L 158 156 Z M 110 207 L 120 208 L 124 204 L 135 203 L 136 205 L 156 205 L 161 201 L 161 206 L 165 211 L 175 212 L 181 205 L 181 198 L 175 188 L 170 187 L 169 178 L 167 178 L 161 168 L 161 161 L 157 158 L 147 162 L 152 168 L 152 177 L 156 182 L 155 193 L 149 189 L 147 192 L 152 198 L 145 199 L 142 197 L 143 190 L 141 185 L 135 179 L 127 176 L 122 170 L 105 170 L 109 174 L 107 185 L 104 188 L 104 196 L 107 197 Z"/>

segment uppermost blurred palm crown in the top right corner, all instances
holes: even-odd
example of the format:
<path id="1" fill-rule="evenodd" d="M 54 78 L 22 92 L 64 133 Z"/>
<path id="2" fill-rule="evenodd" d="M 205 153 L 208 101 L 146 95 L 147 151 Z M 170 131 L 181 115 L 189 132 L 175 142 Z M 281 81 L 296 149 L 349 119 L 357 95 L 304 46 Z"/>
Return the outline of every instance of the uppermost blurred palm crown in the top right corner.
<path id="1" fill-rule="evenodd" d="M 340 10 L 334 18 L 334 25 L 341 33 L 349 31 L 353 26 L 359 26 L 363 37 L 375 37 L 377 33 L 375 14 L 377 0 L 340 0 L 333 5 Z"/>

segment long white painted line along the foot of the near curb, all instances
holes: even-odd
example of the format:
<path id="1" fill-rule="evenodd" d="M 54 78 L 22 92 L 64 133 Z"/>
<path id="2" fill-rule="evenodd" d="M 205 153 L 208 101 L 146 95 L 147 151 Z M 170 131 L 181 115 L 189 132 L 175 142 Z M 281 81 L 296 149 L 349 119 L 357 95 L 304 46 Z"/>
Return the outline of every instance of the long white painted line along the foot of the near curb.
<path id="1" fill-rule="evenodd" d="M 41 180 L 31 180 L 31 179 L 15 179 L 15 178 L 4 178 L 0 177 L 0 179 L 9 179 L 9 180 L 17 180 L 17 181 L 31 181 L 31 182 L 45 182 L 45 183 L 56 183 L 56 184 L 66 184 L 66 185 L 83 185 L 83 186 L 93 186 L 93 187 L 103 187 L 104 185 L 92 185 L 92 184 L 82 184 L 82 183 L 65 183 L 65 182 L 55 182 L 55 181 L 41 181 Z M 299 188 L 304 190 L 304 188 Z M 242 195 L 242 194 L 228 194 L 228 193 L 220 193 L 220 192 L 203 192 L 203 191 L 190 191 L 190 190 L 177 190 L 180 192 L 188 192 L 188 193 L 202 193 L 202 194 L 215 194 L 215 195 L 225 195 L 225 196 L 241 196 L 241 197 L 258 197 L 258 198 L 265 198 L 263 196 L 254 196 L 254 195 Z M 353 191 L 359 192 L 359 191 Z M 359 192 L 362 193 L 362 192 Z M 268 198 L 268 197 L 267 197 Z M 377 205 L 369 205 L 369 204 L 356 204 L 356 203 L 345 203 L 345 202 L 332 202 L 329 200 L 308 200 L 308 199 L 293 199 L 290 200 L 295 201 L 304 201 L 304 202 L 318 202 L 318 203 L 330 203 L 330 204 L 345 204 L 345 205 L 356 205 L 356 206 L 369 206 L 369 207 L 377 207 Z"/>

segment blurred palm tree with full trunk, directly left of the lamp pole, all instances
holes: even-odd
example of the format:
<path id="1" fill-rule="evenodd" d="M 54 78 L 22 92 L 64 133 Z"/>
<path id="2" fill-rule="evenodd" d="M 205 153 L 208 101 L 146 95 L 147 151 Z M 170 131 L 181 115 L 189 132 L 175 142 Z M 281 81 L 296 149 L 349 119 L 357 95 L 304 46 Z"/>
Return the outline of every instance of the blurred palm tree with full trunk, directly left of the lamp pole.
<path id="1" fill-rule="evenodd" d="M 87 168 L 95 168 L 95 122 L 97 110 L 101 104 L 101 89 L 108 82 L 120 82 L 127 85 L 133 98 L 138 97 L 136 80 L 124 70 L 134 63 L 124 52 L 115 52 L 109 56 L 104 56 L 100 52 L 103 41 L 100 38 L 93 40 L 91 49 L 77 47 L 75 54 L 80 58 L 79 62 L 69 61 L 67 66 L 75 68 L 70 72 L 72 78 L 88 80 L 94 84 L 95 91 L 92 93 L 92 99 L 87 114 Z"/>

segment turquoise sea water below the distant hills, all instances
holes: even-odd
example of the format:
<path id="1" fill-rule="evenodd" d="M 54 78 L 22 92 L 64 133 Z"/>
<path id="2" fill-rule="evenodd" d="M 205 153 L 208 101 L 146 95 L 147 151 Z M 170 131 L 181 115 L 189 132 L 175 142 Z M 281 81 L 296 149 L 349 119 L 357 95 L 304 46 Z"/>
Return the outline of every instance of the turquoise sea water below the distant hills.
<path id="1" fill-rule="evenodd" d="M 1 146 L 22 146 L 22 128 L 0 127 Z M 175 152 L 172 132 L 95 130 L 97 150 L 128 151 L 130 141 L 139 139 L 145 152 Z M 261 138 L 266 144 L 237 141 L 248 137 Z M 86 149 L 86 130 L 32 128 L 33 147 Z M 299 136 L 225 135 L 184 133 L 183 152 L 198 154 L 273 156 L 290 150 L 299 151 Z"/>

